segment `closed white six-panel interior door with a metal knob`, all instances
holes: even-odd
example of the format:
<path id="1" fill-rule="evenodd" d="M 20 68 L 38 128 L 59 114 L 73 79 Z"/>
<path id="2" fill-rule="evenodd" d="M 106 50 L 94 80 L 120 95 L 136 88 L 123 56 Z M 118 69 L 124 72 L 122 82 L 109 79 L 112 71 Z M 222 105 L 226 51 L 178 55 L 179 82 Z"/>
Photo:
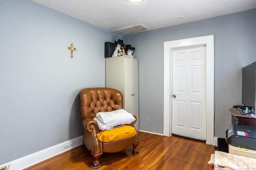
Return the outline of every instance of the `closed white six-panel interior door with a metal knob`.
<path id="1" fill-rule="evenodd" d="M 206 140 L 206 47 L 172 56 L 172 134 Z"/>

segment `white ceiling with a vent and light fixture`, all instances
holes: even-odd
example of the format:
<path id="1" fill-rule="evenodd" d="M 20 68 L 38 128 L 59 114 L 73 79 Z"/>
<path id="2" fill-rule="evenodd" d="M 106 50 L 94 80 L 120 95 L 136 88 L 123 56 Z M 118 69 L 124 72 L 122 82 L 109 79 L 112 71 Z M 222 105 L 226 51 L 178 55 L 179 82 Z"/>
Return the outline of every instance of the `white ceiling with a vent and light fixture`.
<path id="1" fill-rule="evenodd" d="M 256 8 L 256 0 L 32 0 L 108 31 L 153 30 Z M 184 19 L 177 19 L 184 17 Z M 142 24 L 142 25 L 139 25 Z M 132 28 L 131 27 L 131 28 Z M 127 33 L 140 32 L 136 29 Z"/>

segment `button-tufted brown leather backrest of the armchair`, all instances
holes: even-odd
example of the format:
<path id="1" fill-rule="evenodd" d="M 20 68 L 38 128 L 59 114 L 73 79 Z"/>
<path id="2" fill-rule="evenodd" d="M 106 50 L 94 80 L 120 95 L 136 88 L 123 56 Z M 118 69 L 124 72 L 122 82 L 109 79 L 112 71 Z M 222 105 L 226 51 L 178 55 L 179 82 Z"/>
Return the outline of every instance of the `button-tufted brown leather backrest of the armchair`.
<path id="1" fill-rule="evenodd" d="M 82 120 L 93 119 L 98 112 L 123 108 L 123 95 L 113 88 L 85 88 L 79 92 Z"/>

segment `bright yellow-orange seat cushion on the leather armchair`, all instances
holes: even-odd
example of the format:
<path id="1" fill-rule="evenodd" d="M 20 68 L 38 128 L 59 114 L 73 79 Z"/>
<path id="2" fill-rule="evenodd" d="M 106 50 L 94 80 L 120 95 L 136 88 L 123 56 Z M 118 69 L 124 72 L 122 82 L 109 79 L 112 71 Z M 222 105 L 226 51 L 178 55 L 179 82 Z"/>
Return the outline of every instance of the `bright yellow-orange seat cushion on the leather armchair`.
<path id="1" fill-rule="evenodd" d="M 102 142 L 114 142 L 133 137 L 136 133 L 137 131 L 134 127 L 124 125 L 111 130 L 101 131 L 97 134 L 97 138 Z"/>

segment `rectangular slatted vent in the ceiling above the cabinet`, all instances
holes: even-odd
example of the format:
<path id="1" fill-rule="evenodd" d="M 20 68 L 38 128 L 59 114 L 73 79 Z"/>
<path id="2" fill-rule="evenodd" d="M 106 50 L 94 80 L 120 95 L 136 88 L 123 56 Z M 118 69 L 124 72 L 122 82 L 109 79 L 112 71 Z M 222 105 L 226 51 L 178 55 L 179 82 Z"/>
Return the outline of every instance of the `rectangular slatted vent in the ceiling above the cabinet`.
<path id="1" fill-rule="evenodd" d="M 116 29 L 112 32 L 117 33 L 119 35 L 128 35 L 128 34 L 133 34 L 133 33 L 138 33 L 141 31 L 146 31 L 148 30 L 148 27 L 145 27 L 142 24 L 138 24 L 138 25 L 133 25 L 130 27 L 124 27 L 124 28 L 120 28 L 120 29 Z"/>

